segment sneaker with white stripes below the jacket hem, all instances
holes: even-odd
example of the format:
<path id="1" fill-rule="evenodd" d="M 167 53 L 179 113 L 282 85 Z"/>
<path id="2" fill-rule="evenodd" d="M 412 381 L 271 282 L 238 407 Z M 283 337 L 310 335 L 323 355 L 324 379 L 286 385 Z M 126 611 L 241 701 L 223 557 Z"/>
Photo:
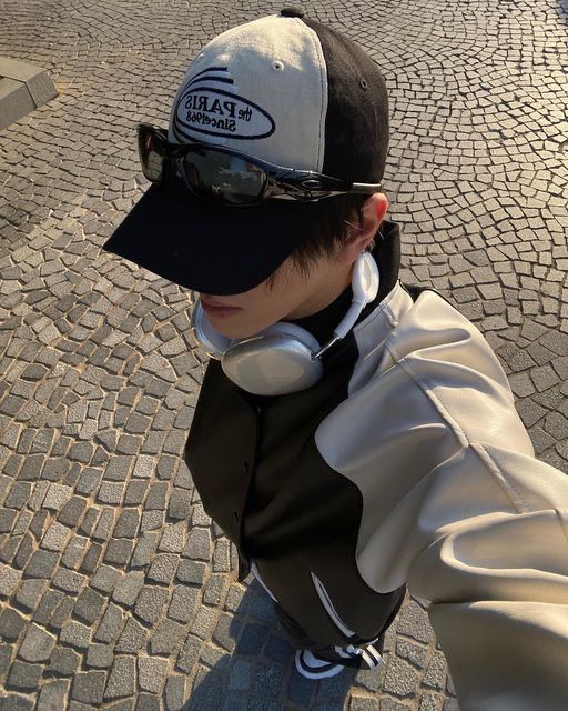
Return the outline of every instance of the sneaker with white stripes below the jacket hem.
<path id="1" fill-rule="evenodd" d="M 383 663 L 379 649 L 383 640 L 377 638 L 363 647 L 327 647 L 325 649 L 296 651 L 296 669 L 306 679 L 328 679 L 345 667 L 377 669 Z"/>

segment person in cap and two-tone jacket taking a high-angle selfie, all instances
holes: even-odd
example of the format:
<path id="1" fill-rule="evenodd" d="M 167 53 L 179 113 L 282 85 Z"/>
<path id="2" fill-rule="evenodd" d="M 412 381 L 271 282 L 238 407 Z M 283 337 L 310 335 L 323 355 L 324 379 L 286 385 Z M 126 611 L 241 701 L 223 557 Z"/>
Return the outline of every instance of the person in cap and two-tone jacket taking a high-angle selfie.
<path id="1" fill-rule="evenodd" d="M 193 289 L 213 358 L 185 461 L 310 679 L 374 668 L 409 591 L 463 711 L 560 711 L 568 481 L 476 328 L 398 281 L 385 83 L 286 8 L 192 61 L 104 246 Z"/>

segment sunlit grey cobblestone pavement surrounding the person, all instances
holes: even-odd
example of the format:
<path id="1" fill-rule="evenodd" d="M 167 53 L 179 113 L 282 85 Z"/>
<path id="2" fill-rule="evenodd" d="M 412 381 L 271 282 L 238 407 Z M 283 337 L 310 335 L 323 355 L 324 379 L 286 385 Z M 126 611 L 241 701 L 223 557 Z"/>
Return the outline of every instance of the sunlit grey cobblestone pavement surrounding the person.
<path id="1" fill-rule="evenodd" d="M 484 331 L 538 455 L 568 471 L 567 3 L 306 2 L 392 96 L 404 278 Z M 145 189 L 135 123 L 280 2 L 2 0 L 0 54 L 59 97 L 0 137 L 0 708 L 455 711 L 419 601 L 379 673 L 293 671 L 265 593 L 181 461 L 190 294 L 100 247 Z"/>

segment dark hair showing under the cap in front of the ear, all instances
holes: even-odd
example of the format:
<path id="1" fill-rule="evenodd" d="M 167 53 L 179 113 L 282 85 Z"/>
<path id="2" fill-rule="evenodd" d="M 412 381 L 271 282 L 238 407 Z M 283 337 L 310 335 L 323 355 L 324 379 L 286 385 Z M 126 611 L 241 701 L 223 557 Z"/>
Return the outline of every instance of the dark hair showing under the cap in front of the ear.
<path id="1" fill-rule="evenodd" d="M 363 206 L 368 196 L 345 194 L 321 200 L 312 219 L 306 220 L 305 239 L 290 256 L 300 273 L 307 278 L 313 264 L 325 256 L 332 256 L 346 241 L 349 227 L 346 220 L 356 224 L 363 222 Z M 276 283 L 278 269 L 266 279 L 272 289 Z"/>

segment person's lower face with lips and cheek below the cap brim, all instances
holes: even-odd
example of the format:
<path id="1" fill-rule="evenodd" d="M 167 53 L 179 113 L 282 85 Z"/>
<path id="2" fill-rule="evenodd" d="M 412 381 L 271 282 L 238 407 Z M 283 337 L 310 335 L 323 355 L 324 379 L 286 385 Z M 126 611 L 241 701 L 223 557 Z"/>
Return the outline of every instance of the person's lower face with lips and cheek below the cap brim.
<path id="1" fill-rule="evenodd" d="M 288 257 L 268 289 L 266 281 L 254 289 L 229 297 L 201 293 L 201 303 L 211 326 L 229 338 L 247 338 L 277 321 L 317 313 L 336 299 L 351 282 L 352 264 L 333 257 L 321 258 L 304 277 Z M 230 307 L 215 310 L 207 306 Z"/>

